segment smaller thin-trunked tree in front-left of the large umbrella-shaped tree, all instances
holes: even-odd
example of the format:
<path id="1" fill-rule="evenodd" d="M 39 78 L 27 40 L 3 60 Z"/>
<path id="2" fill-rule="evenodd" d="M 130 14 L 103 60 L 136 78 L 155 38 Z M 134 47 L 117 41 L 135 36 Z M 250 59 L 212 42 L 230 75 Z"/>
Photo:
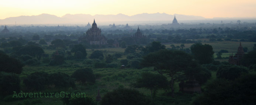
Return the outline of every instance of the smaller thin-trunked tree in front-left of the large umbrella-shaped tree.
<path id="1" fill-rule="evenodd" d="M 132 84 L 136 88 L 146 88 L 151 91 L 151 102 L 153 104 L 153 93 L 160 88 L 166 88 L 168 86 L 167 78 L 160 74 L 152 74 L 145 72 L 141 74 L 141 78 L 136 80 L 136 83 Z"/>

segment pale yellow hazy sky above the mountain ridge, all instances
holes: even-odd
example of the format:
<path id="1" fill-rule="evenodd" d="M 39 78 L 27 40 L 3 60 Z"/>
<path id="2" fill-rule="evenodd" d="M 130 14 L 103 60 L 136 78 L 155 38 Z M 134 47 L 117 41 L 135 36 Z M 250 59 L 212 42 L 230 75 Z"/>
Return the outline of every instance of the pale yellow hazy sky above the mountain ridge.
<path id="1" fill-rule="evenodd" d="M 256 0 L 0 0 L 0 19 L 42 13 L 166 14 L 213 17 L 256 17 Z"/>

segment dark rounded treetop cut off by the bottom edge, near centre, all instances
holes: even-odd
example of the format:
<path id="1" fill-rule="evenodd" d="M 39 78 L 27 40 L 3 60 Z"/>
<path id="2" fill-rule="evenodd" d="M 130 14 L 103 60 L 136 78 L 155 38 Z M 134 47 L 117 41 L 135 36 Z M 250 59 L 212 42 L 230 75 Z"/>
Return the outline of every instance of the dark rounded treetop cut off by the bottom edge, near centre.
<path id="1" fill-rule="evenodd" d="M 149 105 L 150 101 L 137 90 L 118 88 L 101 99 L 101 105 Z"/>

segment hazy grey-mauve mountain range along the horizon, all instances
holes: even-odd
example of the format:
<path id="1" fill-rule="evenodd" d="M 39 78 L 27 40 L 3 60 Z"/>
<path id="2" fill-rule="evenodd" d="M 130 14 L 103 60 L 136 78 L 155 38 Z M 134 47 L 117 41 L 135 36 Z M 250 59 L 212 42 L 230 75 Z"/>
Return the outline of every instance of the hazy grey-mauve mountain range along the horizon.
<path id="1" fill-rule="evenodd" d="M 179 21 L 192 21 L 192 20 L 206 20 L 207 18 L 194 15 L 180 15 L 174 14 L 176 19 Z M 117 14 L 117 15 L 88 15 L 88 14 L 66 14 L 62 17 L 57 17 L 50 14 L 41 14 L 33 16 L 19 16 L 10 17 L 6 19 L 0 19 L 0 25 L 8 24 L 87 24 L 88 22 L 120 22 L 120 21 L 170 21 L 172 22 L 174 15 L 169 15 L 166 13 L 155 13 L 155 14 L 136 14 L 132 16 Z M 255 19 L 255 17 L 252 17 Z M 248 18 L 248 19 L 252 19 Z M 213 19 L 238 19 L 238 18 L 213 18 Z"/>

